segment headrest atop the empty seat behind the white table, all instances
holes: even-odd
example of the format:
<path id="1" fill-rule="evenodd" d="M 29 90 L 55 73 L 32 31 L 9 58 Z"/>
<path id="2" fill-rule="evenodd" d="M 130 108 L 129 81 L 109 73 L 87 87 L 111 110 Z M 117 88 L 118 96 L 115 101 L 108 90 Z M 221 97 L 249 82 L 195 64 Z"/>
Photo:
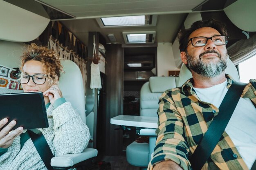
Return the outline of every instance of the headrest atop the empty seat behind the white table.
<path id="1" fill-rule="evenodd" d="M 175 77 L 150 77 L 149 87 L 152 93 L 164 93 L 167 89 L 174 88 Z"/>

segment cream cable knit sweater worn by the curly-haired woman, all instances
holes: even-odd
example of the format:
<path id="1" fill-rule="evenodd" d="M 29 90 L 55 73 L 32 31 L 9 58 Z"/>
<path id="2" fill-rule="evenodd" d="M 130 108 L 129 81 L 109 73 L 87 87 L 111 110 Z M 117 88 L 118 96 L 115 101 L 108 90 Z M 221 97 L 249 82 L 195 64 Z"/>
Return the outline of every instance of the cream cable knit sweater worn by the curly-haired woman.
<path id="1" fill-rule="evenodd" d="M 70 102 L 56 109 L 47 109 L 49 128 L 40 128 L 53 155 L 81 153 L 88 145 L 88 127 L 76 113 Z M 31 139 L 20 150 L 20 136 L 14 139 L 7 152 L 0 156 L 0 170 L 47 170 Z"/>

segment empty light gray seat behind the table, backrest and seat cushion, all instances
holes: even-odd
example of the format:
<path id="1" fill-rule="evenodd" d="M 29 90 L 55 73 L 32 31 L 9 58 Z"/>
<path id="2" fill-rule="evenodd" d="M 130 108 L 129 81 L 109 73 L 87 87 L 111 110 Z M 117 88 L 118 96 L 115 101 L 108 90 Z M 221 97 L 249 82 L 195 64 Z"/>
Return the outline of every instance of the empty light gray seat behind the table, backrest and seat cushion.
<path id="1" fill-rule="evenodd" d="M 174 88 L 175 77 L 150 77 L 140 91 L 140 116 L 157 117 L 157 109 L 159 108 L 159 97 L 169 88 Z M 155 132 L 152 133 L 155 136 Z M 146 169 L 155 141 L 150 146 L 148 143 L 132 142 L 126 148 L 126 159 L 133 166 L 139 166 Z M 151 150 L 151 152 L 150 152 Z"/>

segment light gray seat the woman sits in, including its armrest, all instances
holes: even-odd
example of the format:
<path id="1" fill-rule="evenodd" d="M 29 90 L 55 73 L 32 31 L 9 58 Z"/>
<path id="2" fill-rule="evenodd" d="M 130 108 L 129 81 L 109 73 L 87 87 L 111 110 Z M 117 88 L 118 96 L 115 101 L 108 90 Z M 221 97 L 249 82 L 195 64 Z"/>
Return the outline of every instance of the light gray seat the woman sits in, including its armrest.
<path id="1" fill-rule="evenodd" d="M 79 67 L 70 60 L 61 62 L 65 74 L 61 74 L 59 87 L 63 93 L 63 97 L 69 102 L 75 110 L 80 114 L 83 122 L 86 124 L 85 115 L 85 97 L 83 88 L 83 79 Z M 85 161 L 89 164 L 92 158 L 96 157 L 98 151 L 93 148 L 87 148 L 79 154 L 67 154 L 60 157 L 54 157 L 51 160 L 53 167 L 73 167 L 77 163 Z M 63 168 L 64 169 L 64 168 Z"/>

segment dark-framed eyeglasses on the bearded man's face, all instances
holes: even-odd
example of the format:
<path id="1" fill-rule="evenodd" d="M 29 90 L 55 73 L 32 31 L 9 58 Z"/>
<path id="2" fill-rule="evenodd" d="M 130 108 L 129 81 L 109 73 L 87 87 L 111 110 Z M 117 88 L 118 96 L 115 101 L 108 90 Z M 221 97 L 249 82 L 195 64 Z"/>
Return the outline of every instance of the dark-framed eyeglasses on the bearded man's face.
<path id="1" fill-rule="evenodd" d="M 193 46 L 205 46 L 209 39 L 212 40 L 215 45 L 226 45 L 228 38 L 227 35 L 215 35 L 212 37 L 193 37 L 190 38 L 189 41 L 191 41 Z"/>

